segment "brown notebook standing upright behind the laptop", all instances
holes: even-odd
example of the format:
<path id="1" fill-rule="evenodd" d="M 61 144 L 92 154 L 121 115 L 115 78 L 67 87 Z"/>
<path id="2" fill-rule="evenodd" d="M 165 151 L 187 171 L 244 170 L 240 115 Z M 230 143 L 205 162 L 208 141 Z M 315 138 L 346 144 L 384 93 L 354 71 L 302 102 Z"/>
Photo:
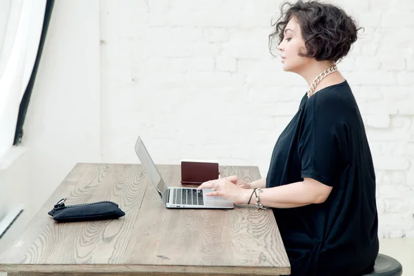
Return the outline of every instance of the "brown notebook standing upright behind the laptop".
<path id="1" fill-rule="evenodd" d="M 181 161 L 181 184 L 199 185 L 219 178 L 219 164 L 216 161 Z"/>

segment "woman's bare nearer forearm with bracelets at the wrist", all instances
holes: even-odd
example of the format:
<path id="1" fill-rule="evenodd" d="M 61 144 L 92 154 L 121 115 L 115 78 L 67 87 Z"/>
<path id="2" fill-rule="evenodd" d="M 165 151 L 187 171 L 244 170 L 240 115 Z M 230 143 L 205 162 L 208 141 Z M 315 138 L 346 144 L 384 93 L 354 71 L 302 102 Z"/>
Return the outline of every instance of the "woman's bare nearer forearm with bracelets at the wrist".
<path id="1" fill-rule="evenodd" d="M 263 206 L 295 208 L 308 204 L 321 204 L 328 198 L 331 190 L 331 186 L 324 185 L 315 179 L 306 177 L 304 181 L 263 189 L 263 193 L 259 194 L 259 199 Z M 244 193 L 244 202 L 248 202 L 252 193 L 253 188 L 246 190 Z M 256 190 L 256 193 L 259 192 Z M 253 197 L 248 203 L 255 204 L 255 202 L 256 196 L 253 193 Z"/>

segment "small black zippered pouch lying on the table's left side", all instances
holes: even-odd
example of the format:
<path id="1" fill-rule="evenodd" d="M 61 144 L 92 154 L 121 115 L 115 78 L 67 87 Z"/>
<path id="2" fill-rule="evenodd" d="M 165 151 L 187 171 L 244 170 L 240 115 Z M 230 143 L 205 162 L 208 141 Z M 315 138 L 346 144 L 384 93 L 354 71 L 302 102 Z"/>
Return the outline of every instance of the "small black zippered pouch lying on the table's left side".
<path id="1" fill-rule="evenodd" d="M 87 204 L 65 206 L 66 198 L 61 199 L 48 215 L 59 222 L 92 221 L 118 219 L 125 215 L 118 204 L 112 201 L 99 201 Z"/>

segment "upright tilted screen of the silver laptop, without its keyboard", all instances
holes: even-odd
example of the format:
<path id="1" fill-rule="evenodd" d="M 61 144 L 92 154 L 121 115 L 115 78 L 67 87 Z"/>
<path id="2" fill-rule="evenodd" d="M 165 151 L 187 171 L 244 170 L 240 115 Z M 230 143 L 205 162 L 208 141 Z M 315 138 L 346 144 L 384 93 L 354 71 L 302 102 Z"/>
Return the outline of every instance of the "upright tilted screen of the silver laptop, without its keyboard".
<path id="1" fill-rule="evenodd" d="M 138 137 L 134 148 L 148 177 L 150 178 L 154 187 L 157 189 L 158 194 L 161 197 L 161 200 L 164 202 L 164 205 L 166 205 L 168 200 L 168 187 L 166 186 L 161 175 L 159 174 L 157 167 L 155 166 L 154 162 L 152 161 L 152 158 L 150 157 L 150 154 L 148 153 L 148 150 L 146 150 L 146 147 L 144 146 L 141 137 Z"/>

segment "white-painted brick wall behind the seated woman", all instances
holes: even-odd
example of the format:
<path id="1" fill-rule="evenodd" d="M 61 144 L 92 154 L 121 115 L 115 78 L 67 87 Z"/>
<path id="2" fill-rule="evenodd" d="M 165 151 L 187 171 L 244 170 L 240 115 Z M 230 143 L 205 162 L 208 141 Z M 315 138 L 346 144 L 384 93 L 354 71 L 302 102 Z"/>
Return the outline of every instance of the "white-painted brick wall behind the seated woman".
<path id="1" fill-rule="evenodd" d="M 366 123 L 377 171 L 380 235 L 414 237 L 414 1 L 342 5 L 365 27 L 339 63 Z M 182 158 L 259 166 L 306 83 L 268 52 L 280 1 L 101 1 L 103 161 Z"/>

